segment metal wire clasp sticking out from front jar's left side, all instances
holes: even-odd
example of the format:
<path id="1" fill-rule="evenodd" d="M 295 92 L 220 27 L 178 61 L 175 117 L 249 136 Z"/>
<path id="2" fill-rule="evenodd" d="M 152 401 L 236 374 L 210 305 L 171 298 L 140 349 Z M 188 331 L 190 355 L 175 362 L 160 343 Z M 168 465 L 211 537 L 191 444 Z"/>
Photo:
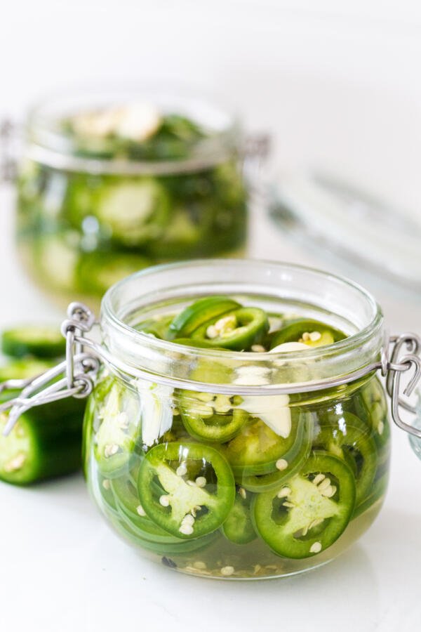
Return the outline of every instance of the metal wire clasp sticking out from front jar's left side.
<path id="1" fill-rule="evenodd" d="M 100 361 L 83 351 L 83 336 L 95 324 L 95 315 L 83 303 L 71 303 L 67 319 L 62 323 L 66 338 L 66 359 L 45 373 L 26 380 L 8 380 L 0 384 L 0 393 L 20 389 L 20 394 L 0 405 L 0 414 L 10 411 L 4 436 L 13 430 L 20 415 L 34 406 L 41 406 L 66 397 L 83 398 L 93 390 Z"/>

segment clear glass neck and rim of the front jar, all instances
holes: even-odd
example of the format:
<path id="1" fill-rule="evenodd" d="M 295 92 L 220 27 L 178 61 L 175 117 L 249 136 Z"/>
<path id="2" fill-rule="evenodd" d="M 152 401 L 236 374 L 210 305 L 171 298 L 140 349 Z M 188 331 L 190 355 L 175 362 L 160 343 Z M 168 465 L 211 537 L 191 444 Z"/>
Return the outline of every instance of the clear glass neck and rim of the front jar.
<path id="1" fill-rule="evenodd" d="M 250 353 L 178 345 L 133 327 L 131 320 L 136 310 L 159 301 L 162 294 L 168 299 L 182 296 L 194 301 L 198 293 L 293 299 L 321 309 L 333 319 L 349 322 L 349 328 L 355 331 L 349 329 L 347 338 L 308 350 Z M 184 388 L 192 390 L 198 390 L 203 383 L 190 380 L 185 369 L 200 359 L 223 362 L 233 371 L 244 366 L 269 371 L 276 368 L 275 384 L 250 386 L 276 392 L 276 386 L 295 384 L 294 390 L 299 392 L 297 383 L 307 384 L 310 390 L 314 381 L 328 381 L 367 367 L 379 359 L 384 344 L 380 306 L 359 284 L 302 265 L 247 259 L 203 259 L 141 270 L 107 291 L 102 299 L 101 326 L 106 347 L 126 364 L 129 374 L 138 374 L 140 369 L 143 375 L 146 370 L 155 378 L 180 379 L 189 384 Z M 234 390 L 240 393 L 242 389 L 235 386 Z"/>

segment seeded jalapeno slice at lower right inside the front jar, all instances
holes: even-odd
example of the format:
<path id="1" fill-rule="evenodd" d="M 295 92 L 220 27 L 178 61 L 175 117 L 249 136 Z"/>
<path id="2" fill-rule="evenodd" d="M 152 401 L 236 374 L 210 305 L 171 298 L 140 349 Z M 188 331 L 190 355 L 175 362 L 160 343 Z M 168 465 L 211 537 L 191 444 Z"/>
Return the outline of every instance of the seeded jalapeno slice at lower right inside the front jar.
<path id="1" fill-rule="evenodd" d="M 347 463 L 314 452 L 286 485 L 255 496 L 255 529 L 274 553 L 309 558 L 344 532 L 354 503 L 354 476 Z"/>

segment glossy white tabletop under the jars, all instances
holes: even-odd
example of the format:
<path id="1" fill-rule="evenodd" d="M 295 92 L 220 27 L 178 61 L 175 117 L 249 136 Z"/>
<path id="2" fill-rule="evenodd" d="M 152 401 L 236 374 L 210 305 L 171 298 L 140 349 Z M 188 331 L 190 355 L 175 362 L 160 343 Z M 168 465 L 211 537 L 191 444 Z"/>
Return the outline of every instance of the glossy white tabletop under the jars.
<path id="1" fill-rule="evenodd" d="M 0 204 L 0 325 L 60 317 L 18 269 L 11 199 Z M 311 263 L 262 217 L 253 237 L 255 256 Z M 403 313 L 388 289 L 371 289 L 392 329 L 420 331 L 421 300 Z M 341 558 L 290 579 L 206 581 L 145 561 L 105 525 L 81 475 L 32 489 L 0 485 L 0 630 L 419 630 L 421 463 L 404 433 L 393 435 L 392 480 L 375 524 Z"/>

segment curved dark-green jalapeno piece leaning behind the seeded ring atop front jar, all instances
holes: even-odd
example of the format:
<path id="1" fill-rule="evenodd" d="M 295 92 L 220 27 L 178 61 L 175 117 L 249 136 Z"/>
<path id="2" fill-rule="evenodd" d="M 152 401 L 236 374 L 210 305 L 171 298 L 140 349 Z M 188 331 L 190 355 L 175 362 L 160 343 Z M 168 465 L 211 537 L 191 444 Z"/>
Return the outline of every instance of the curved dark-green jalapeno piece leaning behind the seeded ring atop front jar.
<path id="1" fill-rule="evenodd" d="M 202 324 L 239 307 L 239 303 L 226 296 L 199 298 L 173 318 L 168 327 L 168 340 L 189 338 Z"/>

